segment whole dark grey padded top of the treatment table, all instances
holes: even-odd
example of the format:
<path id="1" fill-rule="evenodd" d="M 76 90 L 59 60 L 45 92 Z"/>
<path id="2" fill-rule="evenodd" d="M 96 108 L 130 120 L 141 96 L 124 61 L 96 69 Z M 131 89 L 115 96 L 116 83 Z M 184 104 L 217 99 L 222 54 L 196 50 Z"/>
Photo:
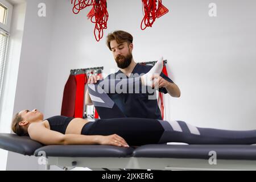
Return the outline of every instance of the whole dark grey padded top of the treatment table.
<path id="1" fill-rule="evenodd" d="M 40 155 L 60 157 L 117 157 L 117 158 L 191 158 L 209 159 L 215 151 L 218 159 L 256 160 L 255 145 L 234 144 L 147 144 L 137 148 L 124 148 L 104 145 L 49 145 L 19 137 L 16 134 L 0 134 L 0 148 L 23 155 Z"/>

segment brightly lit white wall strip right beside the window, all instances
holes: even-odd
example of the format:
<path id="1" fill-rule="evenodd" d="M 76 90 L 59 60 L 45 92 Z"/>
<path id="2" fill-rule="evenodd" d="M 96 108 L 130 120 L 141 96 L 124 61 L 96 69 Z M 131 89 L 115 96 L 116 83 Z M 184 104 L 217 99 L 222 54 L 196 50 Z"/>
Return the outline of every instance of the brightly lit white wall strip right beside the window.
<path id="1" fill-rule="evenodd" d="M 3 99 L 0 106 L 0 133 L 10 133 L 16 82 L 18 78 L 20 52 L 22 48 L 25 12 L 26 3 L 20 3 L 19 5 L 14 6 L 13 21 L 11 22 L 8 46 L 9 51 L 7 53 L 6 76 L 3 82 Z M 7 151 L 0 149 L 0 170 L 6 169 L 7 154 Z"/>

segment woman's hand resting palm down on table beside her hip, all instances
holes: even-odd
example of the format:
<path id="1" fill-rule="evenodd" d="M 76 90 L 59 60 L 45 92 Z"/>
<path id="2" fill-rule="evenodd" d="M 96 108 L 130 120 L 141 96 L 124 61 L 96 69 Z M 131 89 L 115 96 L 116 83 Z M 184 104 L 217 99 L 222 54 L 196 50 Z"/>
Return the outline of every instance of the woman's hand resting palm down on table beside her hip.
<path id="1" fill-rule="evenodd" d="M 101 136 L 99 140 L 99 144 L 109 144 L 109 145 L 118 146 L 118 147 L 129 147 L 125 139 L 118 136 L 117 134 Z"/>

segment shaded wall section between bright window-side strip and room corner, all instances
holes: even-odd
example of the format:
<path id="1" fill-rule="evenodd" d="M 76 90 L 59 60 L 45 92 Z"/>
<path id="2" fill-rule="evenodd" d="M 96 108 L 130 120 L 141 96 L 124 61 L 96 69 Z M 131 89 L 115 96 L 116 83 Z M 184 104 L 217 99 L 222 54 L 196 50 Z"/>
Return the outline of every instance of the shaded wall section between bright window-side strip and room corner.
<path id="1" fill-rule="evenodd" d="M 39 3 L 46 3 L 46 17 L 38 16 Z M 52 0 L 27 1 L 13 114 L 25 108 L 35 107 L 44 112 L 54 7 L 55 1 Z M 35 158 L 9 152 L 6 169 L 40 169 L 40 166 L 35 164 Z"/>

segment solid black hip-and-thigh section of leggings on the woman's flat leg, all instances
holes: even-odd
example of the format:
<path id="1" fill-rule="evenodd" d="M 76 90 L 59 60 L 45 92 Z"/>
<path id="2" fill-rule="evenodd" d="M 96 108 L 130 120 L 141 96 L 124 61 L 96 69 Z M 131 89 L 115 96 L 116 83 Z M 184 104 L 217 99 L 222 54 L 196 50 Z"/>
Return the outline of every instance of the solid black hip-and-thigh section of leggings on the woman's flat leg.
<path id="1" fill-rule="evenodd" d="M 130 146 L 140 146 L 158 143 L 164 129 L 156 119 L 113 118 L 98 119 L 90 123 L 88 129 L 82 131 L 81 134 L 84 135 L 117 134 L 124 138 Z"/>

